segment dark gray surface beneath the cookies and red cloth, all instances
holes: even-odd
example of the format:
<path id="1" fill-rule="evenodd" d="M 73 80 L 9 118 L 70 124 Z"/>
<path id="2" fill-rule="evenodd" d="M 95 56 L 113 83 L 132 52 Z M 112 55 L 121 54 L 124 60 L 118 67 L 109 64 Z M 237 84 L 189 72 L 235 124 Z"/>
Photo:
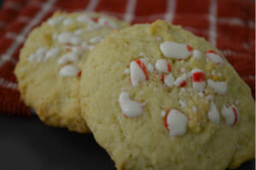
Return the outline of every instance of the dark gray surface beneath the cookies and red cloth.
<path id="1" fill-rule="evenodd" d="M 237 170 L 254 170 L 249 161 Z M 1 170 L 114 170 L 113 161 L 91 134 L 48 127 L 32 116 L 0 114 Z M 192 169 L 191 169 L 192 170 Z"/>

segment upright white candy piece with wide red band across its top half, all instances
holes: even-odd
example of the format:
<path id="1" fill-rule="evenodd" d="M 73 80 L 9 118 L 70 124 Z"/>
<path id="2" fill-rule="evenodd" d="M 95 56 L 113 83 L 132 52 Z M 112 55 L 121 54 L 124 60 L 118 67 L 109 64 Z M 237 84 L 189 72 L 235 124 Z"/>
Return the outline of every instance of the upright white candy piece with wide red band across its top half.
<path id="1" fill-rule="evenodd" d="M 193 69 L 191 71 L 191 77 L 193 88 L 195 88 L 195 90 L 198 92 L 204 90 L 206 86 L 206 77 L 204 71 L 201 71 L 200 69 Z"/>

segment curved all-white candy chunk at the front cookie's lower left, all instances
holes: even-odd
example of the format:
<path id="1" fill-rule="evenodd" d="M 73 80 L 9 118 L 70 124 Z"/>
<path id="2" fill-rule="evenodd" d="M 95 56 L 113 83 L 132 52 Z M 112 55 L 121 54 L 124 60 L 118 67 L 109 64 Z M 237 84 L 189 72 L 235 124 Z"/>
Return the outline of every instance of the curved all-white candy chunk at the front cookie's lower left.
<path id="1" fill-rule="evenodd" d="M 137 117 L 143 114 L 143 104 L 131 100 L 127 92 L 119 94 L 119 106 L 125 116 Z"/>

